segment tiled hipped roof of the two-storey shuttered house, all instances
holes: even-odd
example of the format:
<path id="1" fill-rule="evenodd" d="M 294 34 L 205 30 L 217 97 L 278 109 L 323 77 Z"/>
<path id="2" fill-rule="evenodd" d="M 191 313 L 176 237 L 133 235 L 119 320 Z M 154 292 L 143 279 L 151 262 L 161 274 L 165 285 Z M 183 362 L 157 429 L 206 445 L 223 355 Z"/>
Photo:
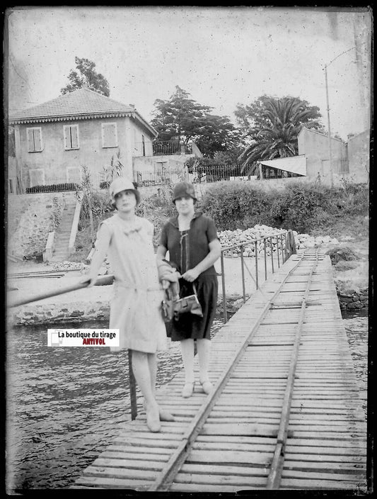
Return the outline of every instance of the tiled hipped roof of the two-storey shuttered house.
<path id="1" fill-rule="evenodd" d="M 134 106 L 114 101 L 88 88 L 74 90 L 69 94 L 57 97 L 57 99 L 52 99 L 52 101 L 14 113 L 9 116 L 9 123 L 37 123 L 122 116 L 137 118 L 153 135 L 157 135 L 156 130 L 139 115 Z"/>

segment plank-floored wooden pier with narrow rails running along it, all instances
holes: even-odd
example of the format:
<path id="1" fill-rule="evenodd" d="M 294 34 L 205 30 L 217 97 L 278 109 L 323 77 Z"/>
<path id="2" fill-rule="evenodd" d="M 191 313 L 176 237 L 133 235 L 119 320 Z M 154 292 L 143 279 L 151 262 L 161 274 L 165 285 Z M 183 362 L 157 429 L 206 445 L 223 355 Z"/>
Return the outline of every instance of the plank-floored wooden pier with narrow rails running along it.
<path id="1" fill-rule="evenodd" d="M 158 391 L 71 488 L 366 490 L 366 421 L 330 257 L 293 255 L 211 340 L 214 392 Z M 197 359 L 196 359 L 197 362 Z M 199 369 L 196 364 L 196 376 Z"/>

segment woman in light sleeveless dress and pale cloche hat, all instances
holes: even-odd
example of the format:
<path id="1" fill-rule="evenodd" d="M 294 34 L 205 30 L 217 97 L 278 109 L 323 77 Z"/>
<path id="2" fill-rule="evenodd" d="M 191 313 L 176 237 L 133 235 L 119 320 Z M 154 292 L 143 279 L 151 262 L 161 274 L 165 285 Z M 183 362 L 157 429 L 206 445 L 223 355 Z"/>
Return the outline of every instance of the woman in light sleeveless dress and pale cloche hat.
<path id="1" fill-rule="evenodd" d="M 132 371 L 144 396 L 146 424 L 151 432 L 161 430 L 160 421 L 174 421 L 173 415 L 158 407 L 155 397 L 156 352 L 167 348 L 166 327 L 161 316 L 163 287 L 178 280 L 166 267 L 158 276 L 153 250 L 153 224 L 135 214 L 140 194 L 134 184 L 119 177 L 110 185 L 112 206 L 117 212 L 98 228 L 95 252 L 86 276 L 95 284 L 106 256 L 115 276 L 110 302 L 110 329 L 120 330 L 120 347 L 132 350 Z"/>

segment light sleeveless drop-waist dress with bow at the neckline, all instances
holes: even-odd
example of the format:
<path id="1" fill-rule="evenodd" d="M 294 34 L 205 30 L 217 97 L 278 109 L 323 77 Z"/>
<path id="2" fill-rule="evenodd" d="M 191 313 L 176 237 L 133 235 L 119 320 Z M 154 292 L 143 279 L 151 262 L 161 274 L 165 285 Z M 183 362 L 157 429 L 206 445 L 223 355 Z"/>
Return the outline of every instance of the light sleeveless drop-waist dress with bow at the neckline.
<path id="1" fill-rule="evenodd" d="M 110 230 L 110 244 L 108 237 L 102 237 L 104 226 Z M 164 293 L 153 250 L 153 224 L 141 217 L 125 221 L 115 214 L 100 224 L 95 247 L 108 254 L 115 276 L 109 327 L 120 330 L 120 347 L 110 347 L 111 351 L 155 353 L 166 349 L 161 316 Z"/>

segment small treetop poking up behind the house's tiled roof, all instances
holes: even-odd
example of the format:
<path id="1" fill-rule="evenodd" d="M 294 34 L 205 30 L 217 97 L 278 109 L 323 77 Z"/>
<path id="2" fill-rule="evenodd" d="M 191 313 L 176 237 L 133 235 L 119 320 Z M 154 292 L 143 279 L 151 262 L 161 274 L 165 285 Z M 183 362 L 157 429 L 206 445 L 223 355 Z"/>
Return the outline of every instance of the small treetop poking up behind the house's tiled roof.
<path id="1" fill-rule="evenodd" d="M 103 74 L 95 71 L 95 63 L 88 59 L 80 59 L 75 57 L 76 69 L 71 69 L 68 75 L 69 84 L 64 86 L 60 91 L 62 95 L 67 94 L 71 91 L 82 89 L 83 86 L 87 86 L 99 94 L 103 94 L 106 97 L 110 96 L 110 89 L 108 80 L 105 79 Z"/>

